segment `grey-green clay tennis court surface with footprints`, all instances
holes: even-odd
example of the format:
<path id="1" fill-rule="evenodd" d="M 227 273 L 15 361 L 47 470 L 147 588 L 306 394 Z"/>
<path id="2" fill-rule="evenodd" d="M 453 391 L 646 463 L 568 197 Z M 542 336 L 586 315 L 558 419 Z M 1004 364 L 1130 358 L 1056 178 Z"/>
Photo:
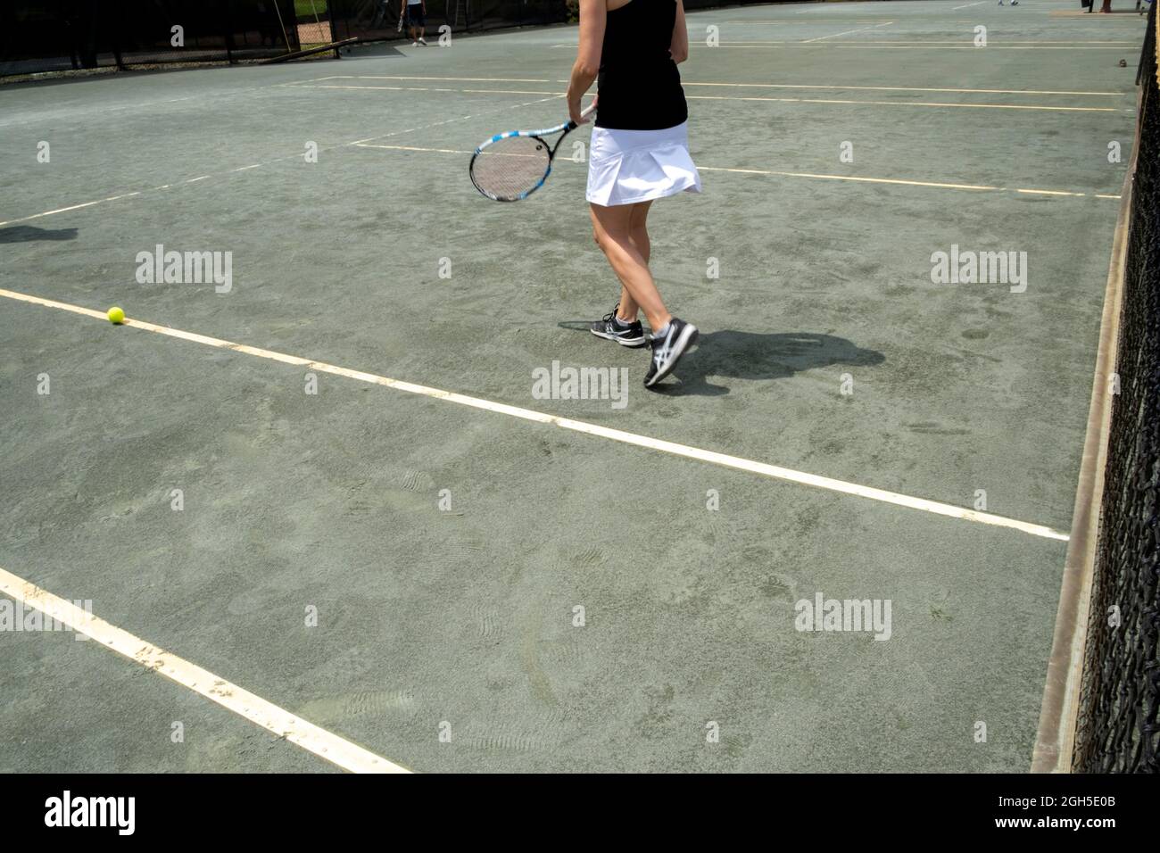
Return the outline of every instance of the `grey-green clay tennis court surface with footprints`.
<path id="1" fill-rule="evenodd" d="M 585 165 L 467 180 L 564 120 L 574 27 L 0 86 L 0 569 L 421 772 L 1025 771 L 1144 31 L 1078 10 L 690 14 L 661 393 L 585 331 Z M 140 283 L 158 246 L 220 281 Z M 626 396 L 536 391 L 566 368 Z M 798 630 L 819 594 L 889 624 Z M 0 769 L 333 769 L 99 641 L 0 644 Z"/>

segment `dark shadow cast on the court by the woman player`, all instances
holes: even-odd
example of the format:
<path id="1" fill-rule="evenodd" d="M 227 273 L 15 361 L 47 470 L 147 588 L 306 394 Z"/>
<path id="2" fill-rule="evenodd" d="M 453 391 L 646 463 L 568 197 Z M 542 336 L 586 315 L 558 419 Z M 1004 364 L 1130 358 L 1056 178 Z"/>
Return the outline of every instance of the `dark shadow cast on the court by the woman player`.
<path id="1" fill-rule="evenodd" d="M 560 324 L 568 328 L 581 324 Z M 653 390 L 674 396 L 728 393 L 725 385 L 712 384 L 709 377 L 738 379 L 784 379 L 803 370 L 844 364 L 869 367 L 886 357 L 832 334 L 820 332 L 738 332 L 725 328 L 702 332 L 697 346 L 676 370 L 680 382 L 666 381 Z"/>

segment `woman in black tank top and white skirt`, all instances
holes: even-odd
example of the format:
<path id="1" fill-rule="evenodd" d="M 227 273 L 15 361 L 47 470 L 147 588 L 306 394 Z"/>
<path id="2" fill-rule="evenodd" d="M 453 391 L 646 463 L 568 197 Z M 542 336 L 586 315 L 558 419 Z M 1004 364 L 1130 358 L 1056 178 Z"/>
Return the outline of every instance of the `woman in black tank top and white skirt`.
<path id="1" fill-rule="evenodd" d="M 689 157 L 688 106 L 676 70 L 689 55 L 681 0 L 580 0 L 580 48 L 568 84 L 568 113 L 597 80 L 596 126 L 588 157 L 593 236 L 621 280 L 621 301 L 592 333 L 623 346 L 653 333 L 645 386 L 672 373 L 697 340 L 696 326 L 673 317 L 648 272 L 648 207 L 666 195 L 701 191 Z"/>

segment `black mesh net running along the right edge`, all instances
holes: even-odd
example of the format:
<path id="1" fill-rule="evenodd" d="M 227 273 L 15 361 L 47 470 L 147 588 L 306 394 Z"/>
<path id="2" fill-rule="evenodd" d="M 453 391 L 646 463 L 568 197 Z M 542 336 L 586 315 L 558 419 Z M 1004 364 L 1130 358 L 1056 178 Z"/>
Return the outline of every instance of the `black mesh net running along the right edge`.
<path id="1" fill-rule="evenodd" d="M 1073 768 L 1160 771 L 1160 82 L 1141 53 L 1139 149 Z M 1119 624 L 1110 614 L 1118 608 Z"/>

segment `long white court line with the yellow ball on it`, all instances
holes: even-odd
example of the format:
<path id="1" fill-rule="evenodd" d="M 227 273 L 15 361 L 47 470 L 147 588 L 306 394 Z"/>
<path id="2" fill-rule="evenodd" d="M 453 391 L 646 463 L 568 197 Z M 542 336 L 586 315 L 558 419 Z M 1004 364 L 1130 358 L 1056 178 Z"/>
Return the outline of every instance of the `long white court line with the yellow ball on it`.
<path id="1" fill-rule="evenodd" d="M 44 308 L 55 308 L 61 311 L 70 311 L 72 313 L 90 317 L 93 319 L 100 320 L 101 323 L 109 321 L 106 315 L 101 311 L 94 311 L 92 309 L 81 308 L 79 305 L 71 305 L 65 302 L 45 299 L 39 296 L 31 296 L 29 294 L 17 294 L 12 290 L 0 290 L 0 296 L 7 297 L 9 299 L 16 299 L 19 302 L 30 303 L 32 305 L 43 305 Z M 827 491 L 839 492 L 842 494 L 851 494 L 858 498 L 877 500 L 883 504 L 892 504 L 894 506 L 901 506 L 908 509 L 918 509 L 920 512 L 933 513 L 935 515 L 945 515 L 948 518 L 960 519 L 963 521 L 974 521 L 983 525 L 1003 527 L 1012 530 L 1018 530 L 1020 533 L 1025 533 L 1030 536 L 1059 540 L 1061 542 L 1067 541 L 1067 534 L 1064 533 L 1063 530 L 1057 530 L 1054 528 L 1046 527 L 1044 525 L 1035 525 L 1029 521 L 1008 519 L 1002 515 L 993 515 L 991 513 L 978 512 L 977 509 L 966 509 L 965 507 L 954 506 L 951 504 L 942 504 L 936 500 L 927 500 L 925 498 L 915 498 L 909 494 L 889 492 L 884 489 L 875 489 L 872 486 L 864 486 L 857 483 L 847 483 L 844 480 L 834 479 L 832 477 L 820 477 L 814 474 L 806 474 L 805 471 L 795 471 L 790 468 L 782 468 L 781 465 L 770 465 L 764 462 L 755 462 L 753 460 L 746 460 L 739 456 L 730 456 L 728 454 L 717 453 L 715 450 L 705 450 L 698 447 L 690 447 L 688 444 L 679 444 L 673 441 L 652 439 L 647 435 L 628 433 L 624 432 L 623 429 L 612 429 L 610 427 L 600 426 L 599 424 L 589 424 L 587 421 L 574 420 L 572 418 L 560 418 L 554 414 L 537 412 L 531 409 L 509 406 L 506 403 L 495 403 L 493 400 L 486 400 L 479 397 L 469 397 L 467 395 L 457 393 L 455 391 L 444 391 L 442 389 L 430 388 L 428 385 L 418 385 L 413 382 L 405 382 L 403 379 L 392 379 L 389 376 L 379 376 L 377 374 L 368 374 L 361 370 L 351 370 L 349 368 L 339 367 L 336 364 L 328 364 L 322 361 L 313 361 L 311 359 L 303 359 L 297 355 L 288 355 L 285 353 L 277 353 L 270 349 L 262 349 L 260 347 L 251 347 L 245 344 L 234 344 L 233 341 L 222 340 L 220 338 L 210 338 L 208 335 L 197 334 L 195 332 L 186 332 L 180 328 L 173 328 L 171 326 L 159 326 L 154 323 L 148 323 L 146 320 L 126 319 L 124 324 L 130 328 L 142 328 L 145 330 L 146 332 L 165 334 L 171 338 L 179 338 L 181 340 L 193 341 L 195 344 L 203 344 L 205 346 L 216 347 L 218 349 L 232 349 L 235 353 L 244 353 L 246 355 L 253 355 L 259 359 L 278 361 L 284 364 L 295 364 L 297 367 L 309 368 L 310 370 L 331 374 L 333 376 L 345 376 L 348 379 L 356 379 L 358 382 L 365 382 L 372 385 L 382 385 L 384 388 L 393 388 L 397 391 L 405 391 L 407 393 L 420 395 L 422 397 L 430 397 L 433 399 L 445 400 L 447 403 L 456 403 L 461 406 L 470 406 L 472 409 L 481 409 L 488 412 L 507 414 L 512 418 L 519 418 L 521 420 L 530 420 L 537 424 L 557 426 L 560 427 L 561 429 L 571 429 L 572 432 L 585 433 L 586 435 L 595 435 L 602 439 L 609 439 L 611 441 L 619 441 L 624 444 L 633 444 L 636 447 L 644 447 L 651 450 L 659 450 L 660 453 L 667 453 L 673 456 L 681 456 L 683 458 L 697 460 L 699 462 L 708 462 L 710 464 L 722 465 L 724 468 L 733 468 L 739 471 L 748 471 L 751 474 L 761 475 L 763 477 L 770 477 L 773 479 L 780 479 L 790 483 L 798 483 L 800 485 L 814 486 L 817 489 L 824 489 Z"/>

